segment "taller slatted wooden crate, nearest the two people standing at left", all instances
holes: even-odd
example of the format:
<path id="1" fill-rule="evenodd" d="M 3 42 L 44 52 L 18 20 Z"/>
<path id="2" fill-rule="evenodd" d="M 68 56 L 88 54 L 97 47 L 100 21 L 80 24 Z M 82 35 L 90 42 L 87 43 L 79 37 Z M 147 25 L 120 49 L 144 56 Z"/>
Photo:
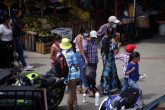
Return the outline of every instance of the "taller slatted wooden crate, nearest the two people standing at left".
<path id="1" fill-rule="evenodd" d="M 25 50 L 35 51 L 37 33 L 28 31 L 25 35 Z"/>

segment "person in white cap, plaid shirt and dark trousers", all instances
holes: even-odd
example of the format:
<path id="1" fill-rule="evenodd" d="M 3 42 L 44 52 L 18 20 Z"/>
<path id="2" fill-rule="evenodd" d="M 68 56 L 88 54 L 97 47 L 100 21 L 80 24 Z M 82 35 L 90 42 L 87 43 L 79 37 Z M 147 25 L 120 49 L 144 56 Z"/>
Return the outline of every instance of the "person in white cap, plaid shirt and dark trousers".
<path id="1" fill-rule="evenodd" d="M 96 70 L 98 63 L 98 52 L 97 52 L 97 32 L 92 30 L 90 32 L 90 41 L 87 46 L 87 59 L 89 64 L 86 67 L 86 79 L 87 84 L 93 91 L 97 91 L 96 88 Z"/>

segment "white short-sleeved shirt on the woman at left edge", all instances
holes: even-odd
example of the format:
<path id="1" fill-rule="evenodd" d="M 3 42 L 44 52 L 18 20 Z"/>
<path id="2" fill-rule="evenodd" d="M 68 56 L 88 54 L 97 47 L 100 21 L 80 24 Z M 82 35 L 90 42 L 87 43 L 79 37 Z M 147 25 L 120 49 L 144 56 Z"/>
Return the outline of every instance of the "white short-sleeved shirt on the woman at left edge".
<path id="1" fill-rule="evenodd" d="M 1 41 L 12 41 L 13 40 L 13 33 L 11 26 L 9 28 L 6 28 L 3 24 L 0 25 L 0 34 L 1 35 Z"/>

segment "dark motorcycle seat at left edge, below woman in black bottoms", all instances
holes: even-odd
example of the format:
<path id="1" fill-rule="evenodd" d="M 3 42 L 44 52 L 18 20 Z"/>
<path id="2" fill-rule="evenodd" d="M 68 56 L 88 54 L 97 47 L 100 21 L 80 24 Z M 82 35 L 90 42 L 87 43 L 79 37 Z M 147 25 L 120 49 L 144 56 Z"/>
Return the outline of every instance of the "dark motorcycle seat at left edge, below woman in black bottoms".
<path id="1" fill-rule="evenodd" d="M 0 84 L 5 82 L 11 76 L 12 76 L 12 74 L 9 69 L 0 69 Z"/>

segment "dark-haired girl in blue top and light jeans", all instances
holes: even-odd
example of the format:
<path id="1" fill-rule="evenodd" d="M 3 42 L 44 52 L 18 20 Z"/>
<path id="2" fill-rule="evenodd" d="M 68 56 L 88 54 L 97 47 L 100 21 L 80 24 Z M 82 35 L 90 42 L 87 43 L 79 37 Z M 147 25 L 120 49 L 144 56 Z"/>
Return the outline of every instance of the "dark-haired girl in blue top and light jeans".
<path id="1" fill-rule="evenodd" d="M 130 87 L 136 88 L 140 91 L 139 85 L 137 84 L 137 81 L 139 80 L 139 61 L 140 61 L 140 54 L 139 52 L 133 52 L 130 55 L 129 63 L 127 65 L 126 69 L 126 75 L 129 76 L 128 84 Z M 138 97 L 138 100 L 135 104 L 137 108 L 141 107 L 141 101 L 140 96 Z"/>

